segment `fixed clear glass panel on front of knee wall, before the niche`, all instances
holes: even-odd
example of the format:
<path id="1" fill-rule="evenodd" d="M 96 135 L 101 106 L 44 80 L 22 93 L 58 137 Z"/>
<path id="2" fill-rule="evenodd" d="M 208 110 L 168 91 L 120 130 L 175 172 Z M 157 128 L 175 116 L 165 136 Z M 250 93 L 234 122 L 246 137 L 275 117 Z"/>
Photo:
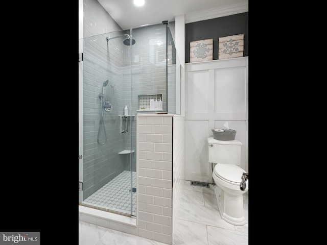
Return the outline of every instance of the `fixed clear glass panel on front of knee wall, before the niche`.
<path id="1" fill-rule="evenodd" d="M 167 113 L 166 24 L 133 28 L 132 102 L 137 113 Z M 150 108 L 150 100 L 162 108 Z"/>

